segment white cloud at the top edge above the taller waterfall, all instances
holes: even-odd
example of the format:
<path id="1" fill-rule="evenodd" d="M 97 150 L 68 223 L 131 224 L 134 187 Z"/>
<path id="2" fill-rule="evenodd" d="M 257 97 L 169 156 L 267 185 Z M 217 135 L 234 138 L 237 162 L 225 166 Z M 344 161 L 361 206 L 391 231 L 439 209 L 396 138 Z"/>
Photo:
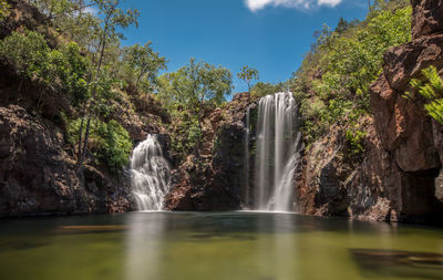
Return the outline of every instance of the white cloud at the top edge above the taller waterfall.
<path id="1" fill-rule="evenodd" d="M 267 6 L 310 9 L 318 6 L 336 7 L 341 1 L 342 0 L 245 0 L 245 3 L 249 10 L 256 12 Z"/>

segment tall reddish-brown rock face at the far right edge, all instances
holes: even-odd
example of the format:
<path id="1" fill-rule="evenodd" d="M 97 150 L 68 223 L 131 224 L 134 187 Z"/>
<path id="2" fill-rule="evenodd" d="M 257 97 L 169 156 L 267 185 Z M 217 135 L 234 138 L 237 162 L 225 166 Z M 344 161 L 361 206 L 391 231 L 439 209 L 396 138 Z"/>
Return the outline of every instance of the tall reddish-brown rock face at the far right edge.
<path id="1" fill-rule="evenodd" d="M 442 126 L 422 105 L 403 96 L 412 92 L 410 81 L 420 79 L 422 70 L 443 69 L 443 1 L 413 0 L 412 42 L 390 49 L 384 55 L 383 73 L 371 86 L 377 137 L 398 168 L 400 180 L 389 190 L 400 191 L 391 206 L 395 219 L 441 214 L 443 204 L 439 170 L 442 166 Z M 374 160 L 377 160 L 374 158 Z M 372 163 L 377 165 L 377 162 Z M 380 187 L 389 177 L 382 177 Z"/>

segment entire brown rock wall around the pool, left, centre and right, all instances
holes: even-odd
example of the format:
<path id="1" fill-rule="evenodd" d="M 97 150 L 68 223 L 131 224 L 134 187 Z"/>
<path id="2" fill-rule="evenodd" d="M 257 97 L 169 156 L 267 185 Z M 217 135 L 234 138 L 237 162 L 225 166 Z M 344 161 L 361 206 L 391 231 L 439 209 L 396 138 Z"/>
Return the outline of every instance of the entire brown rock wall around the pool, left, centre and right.
<path id="1" fill-rule="evenodd" d="M 39 12 L 24 1 L 14 4 L 0 38 L 23 25 L 39 27 Z M 411 79 L 434 65 L 443 75 L 443 1 L 412 0 L 412 42 L 384 55 L 383 73 L 371 85 L 373 117 L 365 127 L 365 153 L 347 154 L 346 129 L 340 125 L 305 151 L 295 178 L 296 211 L 346 216 L 362 220 L 433 222 L 443 215 L 443 126 L 421 105 L 403 97 Z M 89 163 L 76 173 L 75 152 L 64 135 L 63 115 L 70 101 L 47 92 L 43 114 L 34 112 L 41 89 L 22 80 L 0 61 L 0 217 L 134 209 L 127 172 L 112 174 Z M 131 94 L 128 92 L 128 97 Z M 132 103 L 132 104 L 131 104 Z M 134 111 L 128 110 L 134 105 Z M 128 132 L 134 146 L 147 134 L 161 134 L 172 163 L 169 210 L 238 210 L 248 208 L 245 193 L 254 191 L 254 168 L 245 173 L 246 113 L 250 108 L 249 151 L 256 142 L 258 98 L 237 94 L 224 107 L 208 108 L 198 154 L 175 166 L 169 136 L 162 123 L 167 115 L 153 98 L 122 100 L 113 118 Z M 249 179 L 247 179 L 249 178 Z"/>

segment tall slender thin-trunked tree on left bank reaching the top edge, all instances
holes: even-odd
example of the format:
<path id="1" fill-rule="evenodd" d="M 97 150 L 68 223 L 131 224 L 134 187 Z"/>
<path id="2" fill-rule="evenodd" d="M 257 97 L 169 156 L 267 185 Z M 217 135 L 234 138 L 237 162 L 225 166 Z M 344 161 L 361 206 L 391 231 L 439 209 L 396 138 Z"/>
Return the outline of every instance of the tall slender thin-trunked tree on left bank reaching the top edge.
<path id="1" fill-rule="evenodd" d="M 126 11 L 123 11 L 122 9 L 120 9 L 119 8 L 119 4 L 121 3 L 120 0 L 94 0 L 93 2 L 97 4 L 99 15 L 101 15 L 102 19 L 100 29 L 96 30 L 96 34 L 99 38 L 97 44 L 93 50 L 91 50 L 91 52 L 93 53 L 93 62 L 95 70 L 90 83 L 92 87 L 91 98 L 89 101 L 89 104 L 86 103 L 84 104 L 84 110 L 83 110 L 83 113 L 85 110 L 87 110 L 86 128 L 83 142 L 82 142 L 83 120 L 84 120 L 83 117 L 80 126 L 79 157 L 78 157 L 79 167 L 82 167 L 83 157 L 87 149 L 87 139 L 90 135 L 91 120 L 94 115 L 95 103 L 96 103 L 96 94 L 97 94 L 96 82 L 101 75 L 106 45 L 116 38 L 117 39 L 124 38 L 123 33 L 121 33 L 119 30 L 125 29 L 132 24 L 138 27 L 137 19 L 140 15 L 138 10 L 128 9 Z M 83 143 L 83 148 L 82 148 L 82 143 Z"/>

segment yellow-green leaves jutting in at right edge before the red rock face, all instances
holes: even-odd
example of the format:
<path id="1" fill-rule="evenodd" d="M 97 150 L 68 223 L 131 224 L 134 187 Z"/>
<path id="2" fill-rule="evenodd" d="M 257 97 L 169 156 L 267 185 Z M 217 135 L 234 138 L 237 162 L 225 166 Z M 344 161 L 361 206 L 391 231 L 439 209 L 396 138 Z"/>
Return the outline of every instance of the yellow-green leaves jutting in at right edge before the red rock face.
<path id="1" fill-rule="evenodd" d="M 435 66 L 424 69 L 422 74 L 423 81 L 413 79 L 411 85 L 424 98 L 424 110 L 427 114 L 443 124 L 443 80 Z M 412 93 L 405 93 L 405 96 L 411 100 L 415 98 Z"/>

